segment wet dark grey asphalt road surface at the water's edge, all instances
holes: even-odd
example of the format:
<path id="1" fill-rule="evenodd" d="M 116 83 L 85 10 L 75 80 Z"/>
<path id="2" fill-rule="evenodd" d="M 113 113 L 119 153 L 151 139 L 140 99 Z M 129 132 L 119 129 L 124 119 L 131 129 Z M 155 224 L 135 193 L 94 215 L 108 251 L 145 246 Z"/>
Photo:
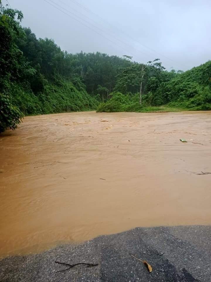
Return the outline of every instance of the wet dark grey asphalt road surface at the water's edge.
<path id="1" fill-rule="evenodd" d="M 147 267 L 134 259 L 146 260 Z M 68 268 L 55 261 L 98 263 Z M 0 261 L 0 281 L 210 282 L 211 226 L 136 228 Z"/>

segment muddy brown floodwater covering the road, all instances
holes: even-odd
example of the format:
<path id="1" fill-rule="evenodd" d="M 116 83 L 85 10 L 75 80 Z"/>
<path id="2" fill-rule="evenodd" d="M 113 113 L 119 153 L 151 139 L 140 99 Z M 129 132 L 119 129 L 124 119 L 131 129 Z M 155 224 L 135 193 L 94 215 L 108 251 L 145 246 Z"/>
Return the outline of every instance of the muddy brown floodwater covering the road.
<path id="1" fill-rule="evenodd" d="M 0 256 L 211 224 L 211 112 L 25 117 L 0 150 Z"/>

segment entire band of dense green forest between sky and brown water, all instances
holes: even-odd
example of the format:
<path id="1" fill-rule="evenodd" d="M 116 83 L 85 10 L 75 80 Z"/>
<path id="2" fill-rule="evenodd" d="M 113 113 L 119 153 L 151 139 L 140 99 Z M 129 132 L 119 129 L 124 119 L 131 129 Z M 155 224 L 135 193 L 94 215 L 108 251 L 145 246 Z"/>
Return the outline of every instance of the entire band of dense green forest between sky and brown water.
<path id="1" fill-rule="evenodd" d="M 21 11 L 0 4 L 0 132 L 24 115 L 69 111 L 211 110 L 211 61 L 167 71 L 158 58 L 70 54 L 23 28 Z M 158 108 L 156 108 L 158 107 Z"/>

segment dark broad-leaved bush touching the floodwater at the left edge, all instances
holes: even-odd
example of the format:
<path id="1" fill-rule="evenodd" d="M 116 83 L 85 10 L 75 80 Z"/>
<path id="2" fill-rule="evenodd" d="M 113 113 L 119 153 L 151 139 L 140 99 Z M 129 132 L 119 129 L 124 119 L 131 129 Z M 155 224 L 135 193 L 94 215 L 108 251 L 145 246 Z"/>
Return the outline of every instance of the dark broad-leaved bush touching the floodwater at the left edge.
<path id="1" fill-rule="evenodd" d="M 16 129 L 22 118 L 23 113 L 12 105 L 10 97 L 0 93 L 0 133 L 8 127 L 12 130 Z"/>

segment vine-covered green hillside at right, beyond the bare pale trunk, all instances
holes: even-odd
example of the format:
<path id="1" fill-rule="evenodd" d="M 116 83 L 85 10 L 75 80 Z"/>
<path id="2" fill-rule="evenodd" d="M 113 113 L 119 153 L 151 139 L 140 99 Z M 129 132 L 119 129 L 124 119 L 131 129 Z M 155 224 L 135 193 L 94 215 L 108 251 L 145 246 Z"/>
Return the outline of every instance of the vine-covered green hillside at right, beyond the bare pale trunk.
<path id="1" fill-rule="evenodd" d="M 211 61 L 177 74 L 171 80 L 163 81 L 160 84 L 155 78 L 149 78 L 145 88 L 147 91 L 145 101 L 150 105 L 178 102 L 190 109 L 209 104 L 211 103 L 210 77 Z M 206 105 L 204 108 L 209 107 Z"/>

